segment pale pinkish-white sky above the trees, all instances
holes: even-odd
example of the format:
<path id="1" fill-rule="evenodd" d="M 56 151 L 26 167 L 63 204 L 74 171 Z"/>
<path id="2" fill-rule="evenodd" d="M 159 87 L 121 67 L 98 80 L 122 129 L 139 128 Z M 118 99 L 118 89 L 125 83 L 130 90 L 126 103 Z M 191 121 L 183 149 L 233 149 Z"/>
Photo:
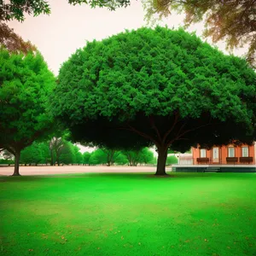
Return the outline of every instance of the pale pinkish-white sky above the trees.
<path id="1" fill-rule="evenodd" d="M 72 55 L 76 49 L 84 47 L 86 41 L 108 38 L 125 29 L 137 29 L 147 26 L 143 20 L 144 12 L 142 3 L 131 0 L 131 6 L 126 9 L 109 11 L 108 9 L 90 9 L 82 4 L 73 6 L 65 0 L 49 0 L 50 15 L 38 17 L 26 16 L 22 23 L 13 20 L 9 26 L 15 29 L 22 38 L 35 44 L 49 68 L 58 74 L 63 61 Z M 172 15 L 160 22 L 162 26 L 182 26 L 183 15 Z M 189 31 L 196 31 L 200 36 L 203 26 L 193 26 Z M 210 40 L 207 40 L 210 42 Z M 218 44 L 224 50 L 224 44 Z M 244 50 L 236 51 L 240 55 Z"/>

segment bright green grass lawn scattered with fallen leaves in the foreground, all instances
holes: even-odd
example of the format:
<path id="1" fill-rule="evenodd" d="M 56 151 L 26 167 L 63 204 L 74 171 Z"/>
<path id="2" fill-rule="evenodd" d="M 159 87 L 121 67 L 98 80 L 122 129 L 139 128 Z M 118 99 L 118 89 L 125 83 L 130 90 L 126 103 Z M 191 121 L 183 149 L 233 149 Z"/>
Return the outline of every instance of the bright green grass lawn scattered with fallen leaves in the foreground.
<path id="1" fill-rule="evenodd" d="M 0 177 L 0 221 L 0 255 L 256 255 L 256 174 Z"/>

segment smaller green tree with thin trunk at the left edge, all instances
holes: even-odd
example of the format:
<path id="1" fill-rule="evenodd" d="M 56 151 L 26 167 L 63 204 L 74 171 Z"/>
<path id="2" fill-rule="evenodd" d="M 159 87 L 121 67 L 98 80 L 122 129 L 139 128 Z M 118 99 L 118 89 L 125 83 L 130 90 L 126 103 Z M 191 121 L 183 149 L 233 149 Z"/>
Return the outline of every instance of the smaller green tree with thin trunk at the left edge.
<path id="1" fill-rule="evenodd" d="M 15 155 L 14 175 L 20 175 L 20 151 L 52 127 L 47 106 L 55 78 L 38 52 L 0 49 L 0 67 L 0 148 Z"/>

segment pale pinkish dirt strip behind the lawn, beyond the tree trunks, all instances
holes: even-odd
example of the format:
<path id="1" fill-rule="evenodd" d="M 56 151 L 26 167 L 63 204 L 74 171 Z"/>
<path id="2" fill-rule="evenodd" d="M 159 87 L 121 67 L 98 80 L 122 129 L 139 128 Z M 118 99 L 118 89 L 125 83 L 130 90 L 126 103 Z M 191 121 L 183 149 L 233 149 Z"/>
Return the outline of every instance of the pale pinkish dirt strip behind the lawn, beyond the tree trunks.
<path id="1" fill-rule="evenodd" d="M 0 175 L 12 175 L 14 166 L 0 166 Z M 20 166 L 20 175 L 49 175 L 83 172 L 155 172 L 153 166 Z M 171 171 L 171 168 L 166 168 Z"/>

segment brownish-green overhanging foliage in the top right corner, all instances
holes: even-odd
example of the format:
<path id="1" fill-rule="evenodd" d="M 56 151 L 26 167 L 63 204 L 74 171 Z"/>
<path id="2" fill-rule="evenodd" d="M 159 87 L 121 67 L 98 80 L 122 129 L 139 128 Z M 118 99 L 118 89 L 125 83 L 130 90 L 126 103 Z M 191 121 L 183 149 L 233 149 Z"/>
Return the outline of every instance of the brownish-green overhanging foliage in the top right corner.
<path id="1" fill-rule="evenodd" d="M 186 14 L 185 26 L 204 20 L 204 36 L 213 43 L 224 40 L 228 49 L 249 44 L 247 61 L 255 67 L 256 60 L 256 2 L 253 0 L 143 0 L 146 19 L 155 15 L 166 17 L 172 11 Z"/>

